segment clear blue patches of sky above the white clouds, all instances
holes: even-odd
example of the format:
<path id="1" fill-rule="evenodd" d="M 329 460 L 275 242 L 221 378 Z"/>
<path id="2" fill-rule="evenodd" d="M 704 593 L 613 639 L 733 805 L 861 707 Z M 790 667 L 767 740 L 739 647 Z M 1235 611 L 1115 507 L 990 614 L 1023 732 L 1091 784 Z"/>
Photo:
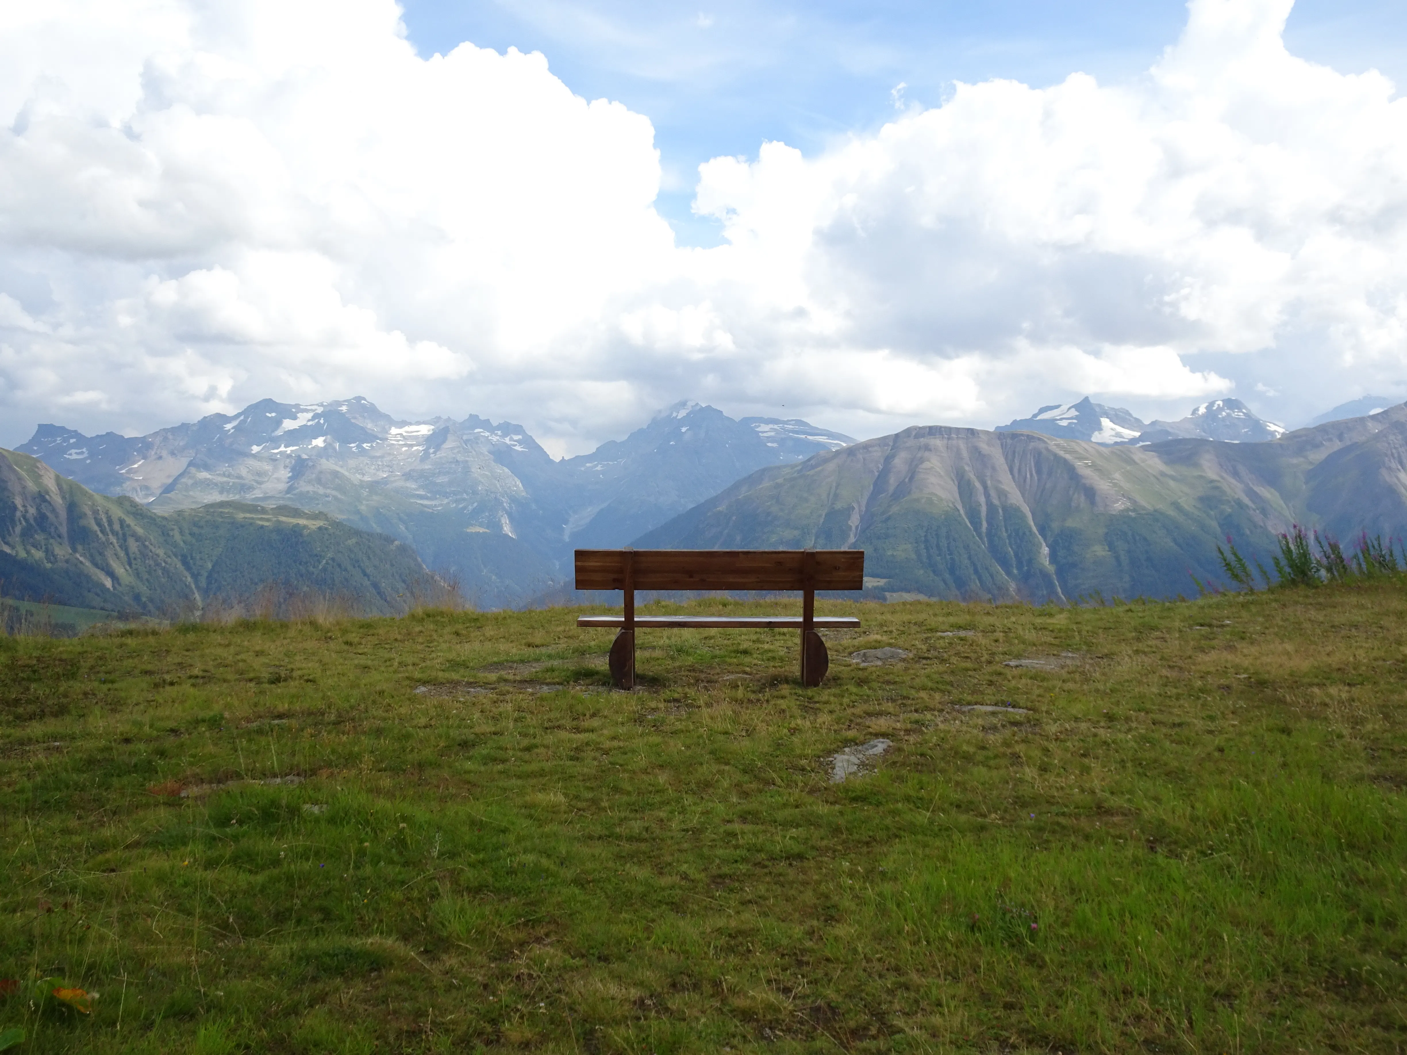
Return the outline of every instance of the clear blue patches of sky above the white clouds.
<path id="1" fill-rule="evenodd" d="M 1047 87 L 1076 70 L 1106 83 L 1134 80 L 1188 18 L 1183 0 L 402 7 L 421 55 L 447 53 L 461 41 L 540 51 L 577 94 L 649 115 L 664 170 L 657 208 L 681 243 L 702 246 L 723 241 L 716 219 L 689 208 L 698 166 L 711 158 L 756 156 L 768 139 L 815 155 L 872 134 L 895 117 L 896 103 L 940 106 L 960 80 Z M 1285 41 L 1314 62 L 1377 69 L 1407 84 L 1407 4 L 1396 0 L 1300 0 Z"/>

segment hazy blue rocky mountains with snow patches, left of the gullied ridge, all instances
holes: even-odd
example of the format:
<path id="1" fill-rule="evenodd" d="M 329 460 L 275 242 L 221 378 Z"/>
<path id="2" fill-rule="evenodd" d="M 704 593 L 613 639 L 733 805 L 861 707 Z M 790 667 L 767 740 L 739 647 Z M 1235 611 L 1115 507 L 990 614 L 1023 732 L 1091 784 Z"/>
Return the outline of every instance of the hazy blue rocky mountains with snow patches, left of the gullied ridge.
<path id="1" fill-rule="evenodd" d="M 512 422 L 398 421 L 353 398 L 263 399 L 135 437 L 41 425 L 21 450 L 158 512 L 231 499 L 322 511 L 409 543 L 495 608 L 550 587 L 574 546 L 623 546 L 763 466 L 850 442 L 678 404 L 625 440 L 554 461 Z"/>

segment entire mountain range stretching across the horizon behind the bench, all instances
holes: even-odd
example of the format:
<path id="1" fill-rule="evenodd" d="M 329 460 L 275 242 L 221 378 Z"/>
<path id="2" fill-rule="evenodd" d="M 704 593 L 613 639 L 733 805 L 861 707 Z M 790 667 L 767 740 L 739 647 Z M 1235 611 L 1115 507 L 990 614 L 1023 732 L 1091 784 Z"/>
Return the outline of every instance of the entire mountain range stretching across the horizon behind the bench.
<path id="1" fill-rule="evenodd" d="M 0 550 L 23 543 L 34 557 L 37 525 L 49 523 L 66 540 L 37 558 L 51 592 L 59 575 L 66 603 L 138 610 L 288 578 L 300 560 L 387 610 L 425 567 L 454 573 L 481 606 L 521 605 L 560 588 L 574 547 L 632 542 L 865 549 L 877 598 L 1171 596 L 1192 575 L 1221 574 L 1227 535 L 1263 554 L 1296 522 L 1407 532 L 1407 407 L 1369 409 L 1283 433 L 1237 399 L 1142 422 L 1085 398 L 993 432 L 927 426 L 855 443 L 681 402 L 623 440 L 553 460 L 511 422 L 407 422 L 363 398 L 262 401 L 136 437 L 39 426 L 23 449 L 34 457 L 10 456 L 7 487 L 24 477 L 51 509 L 87 512 L 70 516 L 76 533 L 56 512 L 18 515 L 30 535 Z M 84 499 L 58 473 L 101 494 Z M 25 494 L 17 508 L 37 509 Z M 113 550 L 118 537 L 136 549 Z M 339 539 L 356 567 L 329 564 L 310 537 Z M 93 539 L 111 551 L 84 550 Z M 409 564 L 384 550 L 393 540 Z M 0 560 L 0 573 L 34 594 L 21 565 Z"/>

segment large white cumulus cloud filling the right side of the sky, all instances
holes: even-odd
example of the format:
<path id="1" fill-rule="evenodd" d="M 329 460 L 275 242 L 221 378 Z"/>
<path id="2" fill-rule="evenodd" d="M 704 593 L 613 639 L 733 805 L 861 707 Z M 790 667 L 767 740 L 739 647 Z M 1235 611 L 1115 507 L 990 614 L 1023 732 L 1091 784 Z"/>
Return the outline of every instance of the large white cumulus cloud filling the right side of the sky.
<path id="1" fill-rule="evenodd" d="M 1289 8 L 1195 0 L 1134 84 L 960 84 L 815 160 L 713 160 L 698 207 L 816 340 L 936 371 L 922 408 L 848 388 L 881 418 L 1228 391 L 1204 353 L 1283 349 L 1259 366 L 1311 405 L 1344 367 L 1397 377 L 1407 101 L 1289 55 Z"/>

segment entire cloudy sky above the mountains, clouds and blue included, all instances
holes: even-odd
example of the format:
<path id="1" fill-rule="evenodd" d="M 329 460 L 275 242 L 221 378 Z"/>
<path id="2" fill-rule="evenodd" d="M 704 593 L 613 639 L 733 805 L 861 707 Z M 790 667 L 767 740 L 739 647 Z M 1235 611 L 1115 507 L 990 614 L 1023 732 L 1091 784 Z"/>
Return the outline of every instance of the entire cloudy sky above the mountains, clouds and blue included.
<path id="1" fill-rule="evenodd" d="M 0 3 L 0 445 L 1407 398 L 1407 6 Z"/>

